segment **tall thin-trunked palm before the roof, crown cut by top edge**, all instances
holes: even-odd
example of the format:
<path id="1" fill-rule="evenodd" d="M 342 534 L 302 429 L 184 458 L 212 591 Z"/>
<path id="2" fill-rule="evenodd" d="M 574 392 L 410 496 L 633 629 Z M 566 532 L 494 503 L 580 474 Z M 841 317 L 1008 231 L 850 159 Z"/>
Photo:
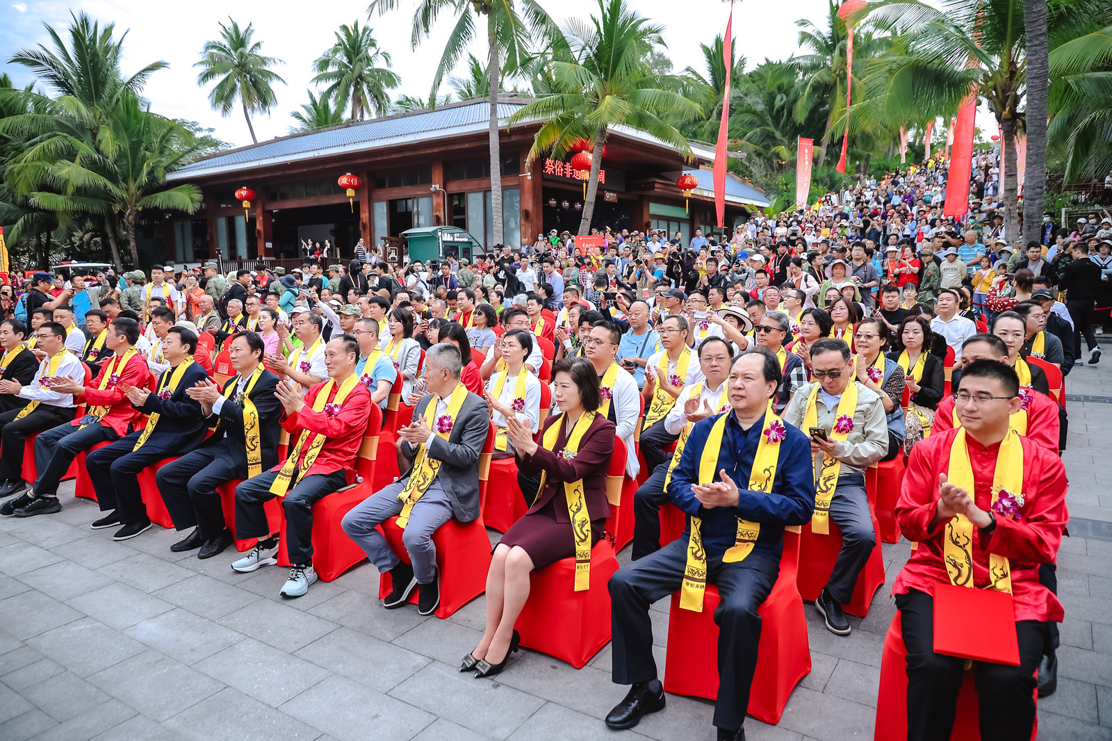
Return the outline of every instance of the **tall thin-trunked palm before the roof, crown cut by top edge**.
<path id="1" fill-rule="evenodd" d="M 401 7 L 403 0 L 371 0 L 367 17 L 386 13 Z M 486 16 L 487 41 L 487 101 L 489 103 L 488 141 L 490 154 L 490 210 L 493 211 L 494 244 L 503 240 L 502 223 L 502 151 L 498 142 L 498 91 L 502 89 L 503 61 L 506 69 L 518 70 L 528 58 L 530 41 L 544 48 L 547 41 L 562 38 L 556 24 L 537 0 L 418 0 L 414 14 L 410 43 L 414 49 L 428 38 L 433 22 L 441 12 L 450 12 L 456 24 L 440 55 L 440 61 L 429 87 L 429 102 L 435 103 L 444 77 L 455 69 L 464 51 L 480 33 L 479 20 Z"/>

